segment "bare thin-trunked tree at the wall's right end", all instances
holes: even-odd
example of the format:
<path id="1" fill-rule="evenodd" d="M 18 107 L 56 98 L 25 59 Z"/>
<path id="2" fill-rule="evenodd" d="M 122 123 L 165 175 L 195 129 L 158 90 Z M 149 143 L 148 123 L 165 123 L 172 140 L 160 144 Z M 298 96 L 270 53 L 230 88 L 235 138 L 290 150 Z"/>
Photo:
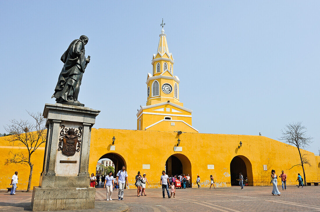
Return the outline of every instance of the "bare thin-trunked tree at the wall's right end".
<path id="1" fill-rule="evenodd" d="M 310 165 L 310 163 L 309 163 L 308 159 L 306 158 L 305 154 L 301 155 L 300 149 L 307 149 L 310 146 L 310 143 L 313 142 L 313 141 L 311 141 L 313 138 L 310 137 L 310 135 L 307 135 L 307 128 L 302 125 L 302 122 L 289 123 L 285 126 L 284 129 L 281 130 L 281 132 L 282 132 L 283 136 L 281 138 L 279 138 L 279 140 L 282 140 L 289 145 L 294 145 L 298 148 L 301 164 L 297 164 L 297 165 L 302 166 L 303 179 L 304 179 L 305 184 L 307 184 L 306 173 L 304 171 L 303 164 Z"/>

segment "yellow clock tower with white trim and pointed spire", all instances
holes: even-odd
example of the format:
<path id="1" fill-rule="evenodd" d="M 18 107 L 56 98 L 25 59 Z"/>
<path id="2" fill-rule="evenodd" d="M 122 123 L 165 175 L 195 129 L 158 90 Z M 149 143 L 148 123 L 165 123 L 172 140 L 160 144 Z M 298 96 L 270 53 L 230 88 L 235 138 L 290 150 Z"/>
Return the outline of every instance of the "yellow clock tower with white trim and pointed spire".
<path id="1" fill-rule="evenodd" d="M 157 53 L 152 57 L 152 74 L 147 76 L 147 104 L 137 113 L 137 129 L 197 133 L 192 127 L 192 110 L 179 101 L 179 77 L 175 76 L 164 23 Z"/>

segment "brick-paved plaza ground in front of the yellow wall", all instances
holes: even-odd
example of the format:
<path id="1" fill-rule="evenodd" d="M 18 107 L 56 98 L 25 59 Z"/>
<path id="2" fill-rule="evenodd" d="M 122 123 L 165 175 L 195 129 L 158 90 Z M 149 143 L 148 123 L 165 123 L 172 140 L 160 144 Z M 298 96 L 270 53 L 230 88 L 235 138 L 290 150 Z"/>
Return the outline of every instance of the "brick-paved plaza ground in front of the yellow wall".
<path id="1" fill-rule="evenodd" d="M 75 211 L 320 211 L 320 186 L 297 188 L 288 186 L 281 196 L 271 194 L 272 186 L 240 186 L 217 188 L 177 189 L 176 198 L 162 198 L 162 189 L 148 189 L 147 196 L 137 197 L 137 191 L 126 189 L 124 201 L 106 201 L 105 189 L 96 189 L 95 209 Z M 0 211 L 31 211 L 32 193 L 0 192 Z"/>

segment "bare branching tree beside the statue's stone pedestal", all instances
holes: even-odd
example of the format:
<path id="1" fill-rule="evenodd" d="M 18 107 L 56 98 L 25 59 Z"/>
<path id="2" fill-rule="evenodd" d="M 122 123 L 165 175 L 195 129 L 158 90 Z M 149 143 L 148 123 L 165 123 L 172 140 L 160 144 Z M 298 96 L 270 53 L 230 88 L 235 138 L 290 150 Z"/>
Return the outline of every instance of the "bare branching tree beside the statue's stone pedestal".
<path id="1" fill-rule="evenodd" d="M 28 112 L 28 111 L 27 111 Z M 46 127 L 45 119 L 40 112 L 28 114 L 33 118 L 33 121 L 26 120 L 11 120 L 11 124 L 5 127 L 5 130 L 12 134 L 5 138 L 6 141 L 12 146 L 25 146 L 28 150 L 28 155 L 23 152 L 12 153 L 9 152 L 9 158 L 4 163 L 5 165 L 16 163 L 16 164 L 28 164 L 30 166 L 30 174 L 28 181 L 27 192 L 30 192 L 31 178 L 33 164 L 31 163 L 31 155 L 34 153 L 38 147 L 45 143 L 46 140 Z"/>

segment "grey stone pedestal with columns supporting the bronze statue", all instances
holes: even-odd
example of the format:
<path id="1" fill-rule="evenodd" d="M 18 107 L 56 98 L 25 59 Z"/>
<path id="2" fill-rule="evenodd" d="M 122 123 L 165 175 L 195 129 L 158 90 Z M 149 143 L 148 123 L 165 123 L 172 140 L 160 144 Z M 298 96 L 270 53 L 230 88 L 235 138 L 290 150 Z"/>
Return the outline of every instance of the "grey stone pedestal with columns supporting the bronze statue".
<path id="1" fill-rule="evenodd" d="M 33 211 L 94 208 L 88 167 L 91 127 L 99 113 L 88 107 L 45 104 L 47 140 L 40 183 L 32 193 Z"/>

